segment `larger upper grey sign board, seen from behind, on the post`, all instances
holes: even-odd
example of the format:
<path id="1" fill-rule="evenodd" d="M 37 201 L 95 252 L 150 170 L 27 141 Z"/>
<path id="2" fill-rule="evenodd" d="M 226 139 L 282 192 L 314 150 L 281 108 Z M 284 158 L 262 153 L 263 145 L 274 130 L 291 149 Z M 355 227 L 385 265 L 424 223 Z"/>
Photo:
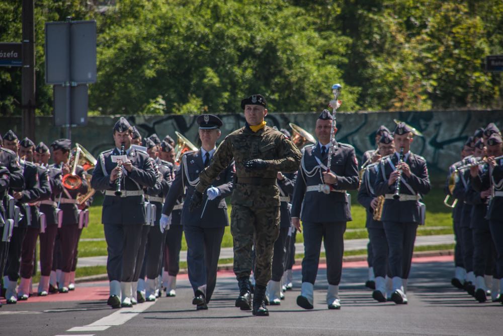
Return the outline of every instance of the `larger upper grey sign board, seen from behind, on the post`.
<path id="1" fill-rule="evenodd" d="M 96 21 L 45 24 L 45 82 L 96 82 Z"/>

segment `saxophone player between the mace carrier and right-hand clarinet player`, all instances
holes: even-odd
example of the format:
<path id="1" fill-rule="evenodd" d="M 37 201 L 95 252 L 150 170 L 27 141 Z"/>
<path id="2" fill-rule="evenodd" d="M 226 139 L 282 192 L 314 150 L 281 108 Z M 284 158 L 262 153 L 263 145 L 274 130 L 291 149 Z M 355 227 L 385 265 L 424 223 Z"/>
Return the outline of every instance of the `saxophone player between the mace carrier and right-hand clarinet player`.
<path id="1" fill-rule="evenodd" d="M 386 131 L 382 133 L 379 144 L 379 156 L 386 158 L 395 151 L 393 137 Z M 382 210 L 383 198 L 377 197 L 374 192 L 374 184 L 379 173 L 379 163 L 375 162 L 365 168 L 360 189 L 358 190 L 358 202 L 367 210 L 366 227 L 369 232 L 369 240 L 373 251 L 373 273 L 375 275 L 375 290 L 372 292 L 374 300 L 385 302 L 387 299 L 385 277 L 388 266 L 388 242 L 386 233 L 380 219 L 379 212 Z"/>

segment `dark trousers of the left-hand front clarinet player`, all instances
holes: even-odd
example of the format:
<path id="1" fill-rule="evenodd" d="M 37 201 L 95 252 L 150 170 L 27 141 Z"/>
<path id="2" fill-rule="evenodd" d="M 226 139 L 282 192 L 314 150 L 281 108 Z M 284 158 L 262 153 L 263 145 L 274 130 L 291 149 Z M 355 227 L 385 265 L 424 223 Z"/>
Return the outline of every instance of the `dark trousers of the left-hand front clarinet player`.
<path id="1" fill-rule="evenodd" d="M 142 224 L 104 224 L 109 281 L 132 282 L 142 237 Z"/>

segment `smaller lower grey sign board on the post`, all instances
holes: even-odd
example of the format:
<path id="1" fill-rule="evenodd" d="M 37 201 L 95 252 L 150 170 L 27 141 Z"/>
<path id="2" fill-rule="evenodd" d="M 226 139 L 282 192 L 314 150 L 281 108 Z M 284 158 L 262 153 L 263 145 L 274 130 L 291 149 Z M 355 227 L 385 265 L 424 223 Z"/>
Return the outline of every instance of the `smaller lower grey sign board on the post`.
<path id="1" fill-rule="evenodd" d="M 67 87 L 54 85 L 54 125 L 82 126 L 88 123 L 88 86 L 86 84 L 71 86 L 68 97 Z M 70 102 L 70 113 L 67 113 L 67 101 Z M 68 120 L 68 116 L 70 120 Z"/>

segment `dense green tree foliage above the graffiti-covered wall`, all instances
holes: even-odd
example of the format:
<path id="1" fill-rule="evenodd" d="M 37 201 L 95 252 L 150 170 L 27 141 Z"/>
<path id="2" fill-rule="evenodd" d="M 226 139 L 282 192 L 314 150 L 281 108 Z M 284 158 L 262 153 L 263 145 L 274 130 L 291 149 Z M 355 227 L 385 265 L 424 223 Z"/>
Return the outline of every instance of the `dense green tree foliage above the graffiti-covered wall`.
<path id="1" fill-rule="evenodd" d="M 50 114 L 44 23 L 95 19 L 97 114 L 501 108 L 501 0 L 37 0 L 37 113 Z M 0 40 L 21 40 L 21 1 L 0 3 Z M 0 113 L 20 114 L 20 68 L 0 68 Z"/>

